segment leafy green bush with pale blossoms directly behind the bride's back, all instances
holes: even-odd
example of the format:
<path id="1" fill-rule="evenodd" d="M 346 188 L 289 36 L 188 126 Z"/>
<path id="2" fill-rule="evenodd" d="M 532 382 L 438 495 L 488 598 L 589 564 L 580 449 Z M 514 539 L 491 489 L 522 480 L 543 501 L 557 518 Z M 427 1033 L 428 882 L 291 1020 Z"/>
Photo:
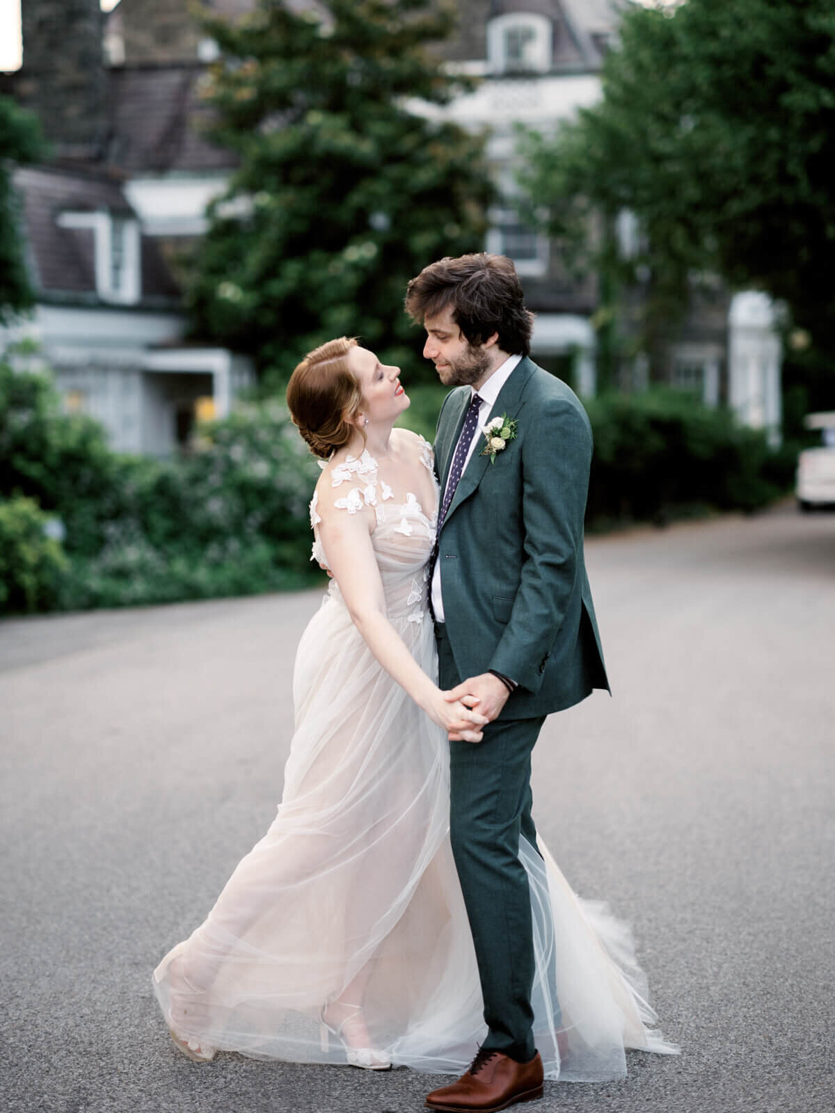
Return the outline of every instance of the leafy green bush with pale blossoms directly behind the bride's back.
<path id="1" fill-rule="evenodd" d="M 179 460 L 125 460 L 119 514 L 75 564 L 73 607 L 125 605 L 301 588 L 316 466 L 278 403 L 202 426 Z"/>

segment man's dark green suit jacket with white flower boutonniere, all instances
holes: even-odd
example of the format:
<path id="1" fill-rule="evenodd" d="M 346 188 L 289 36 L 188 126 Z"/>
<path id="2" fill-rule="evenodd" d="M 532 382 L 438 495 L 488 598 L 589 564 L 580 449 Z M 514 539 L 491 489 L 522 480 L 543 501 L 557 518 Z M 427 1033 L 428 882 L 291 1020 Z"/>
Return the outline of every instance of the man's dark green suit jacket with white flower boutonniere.
<path id="1" fill-rule="evenodd" d="M 470 404 L 444 398 L 435 463 L 441 490 Z M 479 441 L 438 539 L 446 636 L 461 679 L 495 669 L 519 689 L 501 718 L 533 718 L 609 688 L 583 558 L 591 425 L 577 395 L 523 358 L 491 417 L 515 440 L 482 456 Z"/>

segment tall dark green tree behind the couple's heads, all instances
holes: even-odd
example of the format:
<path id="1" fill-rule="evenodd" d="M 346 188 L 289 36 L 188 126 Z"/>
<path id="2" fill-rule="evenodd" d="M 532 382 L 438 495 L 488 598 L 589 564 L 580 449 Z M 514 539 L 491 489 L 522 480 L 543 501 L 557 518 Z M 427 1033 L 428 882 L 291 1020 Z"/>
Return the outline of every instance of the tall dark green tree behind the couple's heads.
<path id="1" fill-rule="evenodd" d="M 432 114 L 471 85 L 432 53 L 450 12 L 432 0 L 327 12 L 261 0 L 234 27 L 205 21 L 222 50 L 205 89 L 213 135 L 240 166 L 210 209 L 190 307 L 203 335 L 281 377 L 343 333 L 409 359 L 406 282 L 479 250 L 492 197 L 483 137 Z"/>

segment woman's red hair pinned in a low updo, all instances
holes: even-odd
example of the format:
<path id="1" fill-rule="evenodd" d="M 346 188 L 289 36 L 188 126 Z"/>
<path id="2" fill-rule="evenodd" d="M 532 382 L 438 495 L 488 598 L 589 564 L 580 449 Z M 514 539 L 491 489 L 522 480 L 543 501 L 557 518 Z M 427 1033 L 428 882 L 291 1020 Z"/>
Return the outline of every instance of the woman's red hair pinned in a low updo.
<path id="1" fill-rule="evenodd" d="M 346 445 L 358 430 L 351 421 L 362 408 L 363 392 L 348 367 L 356 339 L 340 336 L 308 352 L 289 376 L 287 406 L 298 432 L 323 460 Z"/>

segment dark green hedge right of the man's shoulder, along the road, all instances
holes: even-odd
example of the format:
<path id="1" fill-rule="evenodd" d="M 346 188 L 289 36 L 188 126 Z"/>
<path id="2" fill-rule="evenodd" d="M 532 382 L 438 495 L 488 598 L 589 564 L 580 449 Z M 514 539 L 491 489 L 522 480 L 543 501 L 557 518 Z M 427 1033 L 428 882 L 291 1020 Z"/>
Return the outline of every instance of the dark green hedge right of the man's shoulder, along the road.
<path id="1" fill-rule="evenodd" d="M 595 433 L 586 520 L 591 529 L 709 510 L 752 512 L 789 487 L 795 451 L 728 410 L 680 391 L 607 394 L 586 401 Z"/>

